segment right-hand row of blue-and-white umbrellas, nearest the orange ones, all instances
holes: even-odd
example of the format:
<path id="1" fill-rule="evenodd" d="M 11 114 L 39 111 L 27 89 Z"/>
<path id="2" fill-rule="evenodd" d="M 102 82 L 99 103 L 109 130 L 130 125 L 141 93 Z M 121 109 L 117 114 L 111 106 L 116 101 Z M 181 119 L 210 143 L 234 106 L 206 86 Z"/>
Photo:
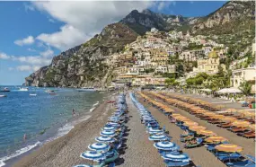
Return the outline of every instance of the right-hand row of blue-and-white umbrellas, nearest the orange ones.
<path id="1" fill-rule="evenodd" d="M 190 166 L 192 162 L 189 155 L 181 153 L 180 146 L 170 141 L 172 137 L 166 134 L 165 129 L 159 126 L 151 113 L 137 101 L 134 93 L 130 93 L 130 97 L 139 111 L 141 122 L 146 127 L 148 139 L 154 141 L 154 147 L 158 149 L 165 165 L 168 167 Z"/>

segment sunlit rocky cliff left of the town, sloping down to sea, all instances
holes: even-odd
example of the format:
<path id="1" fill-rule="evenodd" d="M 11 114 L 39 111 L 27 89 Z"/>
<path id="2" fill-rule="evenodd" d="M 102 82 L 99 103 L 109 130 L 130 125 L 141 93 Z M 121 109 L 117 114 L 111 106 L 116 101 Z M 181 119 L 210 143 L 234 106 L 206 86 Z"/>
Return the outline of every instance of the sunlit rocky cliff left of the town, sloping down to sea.
<path id="1" fill-rule="evenodd" d="M 104 86 L 109 67 L 102 63 L 110 53 L 115 53 L 136 40 L 137 33 L 126 25 L 113 23 L 86 43 L 70 48 L 54 57 L 49 66 L 26 78 L 32 86 Z"/>

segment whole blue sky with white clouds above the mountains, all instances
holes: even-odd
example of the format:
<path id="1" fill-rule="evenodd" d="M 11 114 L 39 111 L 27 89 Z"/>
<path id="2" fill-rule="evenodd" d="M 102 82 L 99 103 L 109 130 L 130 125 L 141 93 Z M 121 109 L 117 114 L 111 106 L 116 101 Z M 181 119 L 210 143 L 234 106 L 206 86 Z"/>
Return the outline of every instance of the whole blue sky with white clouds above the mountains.
<path id="1" fill-rule="evenodd" d="M 130 11 L 204 16 L 225 1 L 0 2 L 0 85 L 21 85 L 52 57 L 91 39 Z"/>

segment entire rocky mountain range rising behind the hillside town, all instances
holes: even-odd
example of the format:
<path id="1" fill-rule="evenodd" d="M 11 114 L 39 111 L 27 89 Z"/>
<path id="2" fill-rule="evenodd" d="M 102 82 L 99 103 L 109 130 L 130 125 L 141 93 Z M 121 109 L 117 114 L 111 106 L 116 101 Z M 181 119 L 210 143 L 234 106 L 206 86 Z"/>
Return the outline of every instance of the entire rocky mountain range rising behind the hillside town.
<path id="1" fill-rule="evenodd" d="M 229 1 L 204 17 L 183 17 L 154 13 L 148 9 L 131 11 L 117 23 L 106 26 L 100 34 L 52 59 L 49 66 L 26 77 L 26 85 L 34 86 L 104 86 L 110 82 L 111 70 L 102 61 L 110 54 L 143 35 L 151 28 L 160 31 L 191 31 L 196 34 L 217 34 L 221 43 L 234 45 L 237 40 L 255 37 L 255 2 Z M 224 36 L 227 35 L 227 36 Z M 231 35 L 231 36 L 228 36 Z M 227 41 L 227 40 L 228 41 Z M 230 39 L 233 39 L 231 41 Z M 251 45 L 247 42 L 243 49 Z M 233 42 L 233 43 L 232 43 Z M 236 46 L 235 46 L 236 48 Z"/>

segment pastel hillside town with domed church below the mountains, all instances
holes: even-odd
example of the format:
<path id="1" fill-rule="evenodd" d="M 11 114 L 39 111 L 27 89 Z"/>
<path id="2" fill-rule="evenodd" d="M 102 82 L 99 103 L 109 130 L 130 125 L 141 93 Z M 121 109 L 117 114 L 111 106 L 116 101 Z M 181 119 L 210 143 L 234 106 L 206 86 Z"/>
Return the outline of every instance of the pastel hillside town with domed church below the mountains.
<path id="1" fill-rule="evenodd" d="M 169 84 L 168 79 L 174 78 L 171 85 L 188 87 L 191 78 L 200 74 L 213 76 L 222 73 L 229 75 L 229 82 L 216 85 L 212 90 L 225 86 L 239 88 L 243 82 L 251 82 L 251 92 L 255 92 L 255 64 L 248 61 L 249 57 L 255 57 L 255 43 L 252 42 L 251 48 L 241 52 L 239 58 L 226 66 L 229 48 L 211 39 L 203 35 L 192 36 L 189 31 L 183 34 L 181 31 L 162 32 L 152 28 L 123 51 L 106 57 L 104 63 L 112 69 L 112 86 L 163 87 Z M 209 80 L 196 83 L 199 83 L 198 88 L 210 85 Z"/>

